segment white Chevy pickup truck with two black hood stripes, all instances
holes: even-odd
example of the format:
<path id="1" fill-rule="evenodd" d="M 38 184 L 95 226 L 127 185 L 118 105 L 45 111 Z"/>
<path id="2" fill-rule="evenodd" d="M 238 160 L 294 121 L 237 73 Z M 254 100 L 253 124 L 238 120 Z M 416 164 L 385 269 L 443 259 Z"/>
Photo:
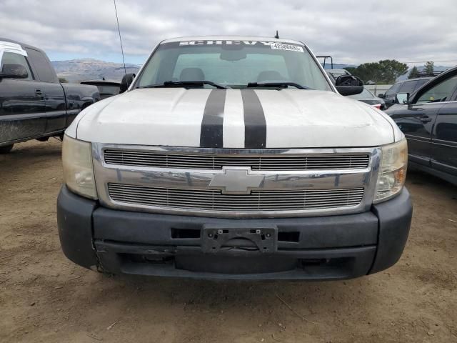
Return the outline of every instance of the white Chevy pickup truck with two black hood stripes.
<path id="1" fill-rule="evenodd" d="M 395 264 L 406 140 L 300 41 L 162 41 L 66 130 L 66 257 L 101 272 L 348 279 Z M 123 86 L 121 86 L 122 88 Z"/>

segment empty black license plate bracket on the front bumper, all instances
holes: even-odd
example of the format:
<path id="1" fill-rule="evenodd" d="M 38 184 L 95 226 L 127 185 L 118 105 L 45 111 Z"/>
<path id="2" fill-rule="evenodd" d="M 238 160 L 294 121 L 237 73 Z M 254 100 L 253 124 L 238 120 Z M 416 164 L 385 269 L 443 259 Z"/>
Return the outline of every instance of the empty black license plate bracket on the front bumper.
<path id="1" fill-rule="evenodd" d="M 216 253 L 221 249 L 276 252 L 277 242 L 276 227 L 204 227 L 201 235 L 201 249 L 209 253 Z"/>

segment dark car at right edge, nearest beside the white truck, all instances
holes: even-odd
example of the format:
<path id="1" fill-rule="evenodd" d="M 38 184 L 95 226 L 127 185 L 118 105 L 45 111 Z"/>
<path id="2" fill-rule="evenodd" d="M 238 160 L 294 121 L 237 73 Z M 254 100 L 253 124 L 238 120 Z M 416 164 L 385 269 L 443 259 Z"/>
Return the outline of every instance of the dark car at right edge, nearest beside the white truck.
<path id="1" fill-rule="evenodd" d="M 386 113 L 408 139 L 409 164 L 457 184 L 457 67 L 413 94 L 397 94 Z"/>

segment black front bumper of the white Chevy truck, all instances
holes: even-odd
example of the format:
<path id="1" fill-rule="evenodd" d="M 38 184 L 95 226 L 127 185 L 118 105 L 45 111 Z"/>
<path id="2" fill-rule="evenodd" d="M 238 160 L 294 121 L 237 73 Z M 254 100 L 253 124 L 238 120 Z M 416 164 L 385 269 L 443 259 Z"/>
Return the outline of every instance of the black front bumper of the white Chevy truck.
<path id="1" fill-rule="evenodd" d="M 409 193 L 371 212 L 326 217 L 220 219 L 127 212 L 99 207 L 64 186 L 57 201 L 66 257 L 106 272 L 201 279 L 350 279 L 395 264 L 411 224 Z M 249 242 L 215 253 L 201 249 L 205 227 L 267 228 L 275 250 Z M 247 244 L 243 247 L 243 244 Z"/>

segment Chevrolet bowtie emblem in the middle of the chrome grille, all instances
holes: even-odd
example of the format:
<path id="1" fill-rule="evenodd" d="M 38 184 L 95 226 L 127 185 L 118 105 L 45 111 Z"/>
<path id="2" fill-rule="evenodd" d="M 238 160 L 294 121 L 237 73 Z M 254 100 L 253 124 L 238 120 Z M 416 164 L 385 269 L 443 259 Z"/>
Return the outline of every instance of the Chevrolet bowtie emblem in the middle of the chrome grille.
<path id="1" fill-rule="evenodd" d="M 249 194 L 251 189 L 258 188 L 263 175 L 249 174 L 251 168 L 223 167 L 224 174 L 216 174 L 209 187 L 221 189 L 224 194 Z"/>

